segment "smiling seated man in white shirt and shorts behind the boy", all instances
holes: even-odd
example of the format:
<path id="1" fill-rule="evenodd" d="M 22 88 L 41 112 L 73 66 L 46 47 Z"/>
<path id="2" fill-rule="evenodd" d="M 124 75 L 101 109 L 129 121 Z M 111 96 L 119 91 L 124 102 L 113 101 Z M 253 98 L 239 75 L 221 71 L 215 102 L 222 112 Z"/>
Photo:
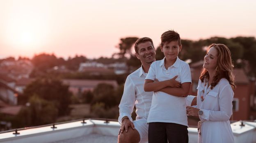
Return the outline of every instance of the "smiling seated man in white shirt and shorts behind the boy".
<path id="1" fill-rule="evenodd" d="M 155 61 L 155 48 L 152 39 L 148 37 L 139 38 L 134 47 L 135 55 L 141 61 L 142 67 L 130 74 L 124 85 L 123 96 L 119 105 L 118 121 L 121 124 L 118 136 L 119 143 L 145 143 L 148 141 L 147 117 L 153 92 L 144 91 L 144 81 L 151 63 Z M 178 84 L 175 78 L 171 80 Z M 137 114 L 135 121 L 131 118 L 134 105 Z"/>

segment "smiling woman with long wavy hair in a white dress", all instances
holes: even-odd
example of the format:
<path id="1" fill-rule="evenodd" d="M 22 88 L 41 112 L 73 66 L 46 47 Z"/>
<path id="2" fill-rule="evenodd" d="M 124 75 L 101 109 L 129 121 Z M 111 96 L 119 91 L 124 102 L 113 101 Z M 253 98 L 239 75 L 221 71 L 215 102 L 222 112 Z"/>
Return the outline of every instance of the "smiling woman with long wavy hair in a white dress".
<path id="1" fill-rule="evenodd" d="M 187 107 L 189 116 L 199 116 L 199 143 L 233 143 L 229 119 L 232 115 L 233 64 L 229 49 L 212 44 L 204 57 L 198 83 L 197 105 Z"/>

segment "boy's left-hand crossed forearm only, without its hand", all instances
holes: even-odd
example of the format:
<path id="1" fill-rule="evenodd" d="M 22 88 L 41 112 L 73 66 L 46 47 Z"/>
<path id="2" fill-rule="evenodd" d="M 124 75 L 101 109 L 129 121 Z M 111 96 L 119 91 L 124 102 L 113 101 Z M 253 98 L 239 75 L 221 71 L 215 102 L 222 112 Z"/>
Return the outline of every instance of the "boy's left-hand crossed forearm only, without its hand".
<path id="1" fill-rule="evenodd" d="M 145 80 L 144 83 L 144 91 L 145 92 L 156 92 L 159 91 L 160 89 L 163 89 L 165 87 L 167 87 L 167 81 L 160 81 L 160 82 L 153 82 L 153 80 L 151 80 L 152 82 L 149 82 L 149 80 Z"/>

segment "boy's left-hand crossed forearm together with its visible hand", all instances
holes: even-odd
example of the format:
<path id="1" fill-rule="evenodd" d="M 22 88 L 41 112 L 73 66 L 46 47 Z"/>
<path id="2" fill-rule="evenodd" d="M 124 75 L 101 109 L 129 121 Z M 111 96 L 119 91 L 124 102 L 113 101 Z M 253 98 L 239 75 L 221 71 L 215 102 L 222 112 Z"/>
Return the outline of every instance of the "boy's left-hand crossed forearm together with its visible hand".
<path id="1" fill-rule="evenodd" d="M 144 91 L 156 92 L 165 87 L 179 87 L 180 83 L 175 80 L 177 77 L 178 76 L 174 76 L 174 78 L 171 78 L 169 80 L 159 81 L 159 82 L 154 82 L 154 80 L 146 79 L 144 83 Z"/>

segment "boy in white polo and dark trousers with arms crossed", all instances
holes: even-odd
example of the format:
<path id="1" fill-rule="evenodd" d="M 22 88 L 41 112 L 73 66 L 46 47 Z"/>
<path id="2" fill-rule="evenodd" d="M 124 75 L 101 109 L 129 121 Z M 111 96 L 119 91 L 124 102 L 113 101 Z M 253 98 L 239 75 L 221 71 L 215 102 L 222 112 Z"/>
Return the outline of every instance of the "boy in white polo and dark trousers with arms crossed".
<path id="1" fill-rule="evenodd" d="M 145 78 L 145 92 L 154 92 L 147 122 L 149 143 L 188 143 L 186 99 L 190 84 L 190 67 L 178 58 L 181 38 L 175 31 L 161 36 L 161 51 L 165 58 L 151 64 Z M 171 78 L 181 85 L 173 87 Z M 159 80 L 159 82 L 154 81 Z"/>

